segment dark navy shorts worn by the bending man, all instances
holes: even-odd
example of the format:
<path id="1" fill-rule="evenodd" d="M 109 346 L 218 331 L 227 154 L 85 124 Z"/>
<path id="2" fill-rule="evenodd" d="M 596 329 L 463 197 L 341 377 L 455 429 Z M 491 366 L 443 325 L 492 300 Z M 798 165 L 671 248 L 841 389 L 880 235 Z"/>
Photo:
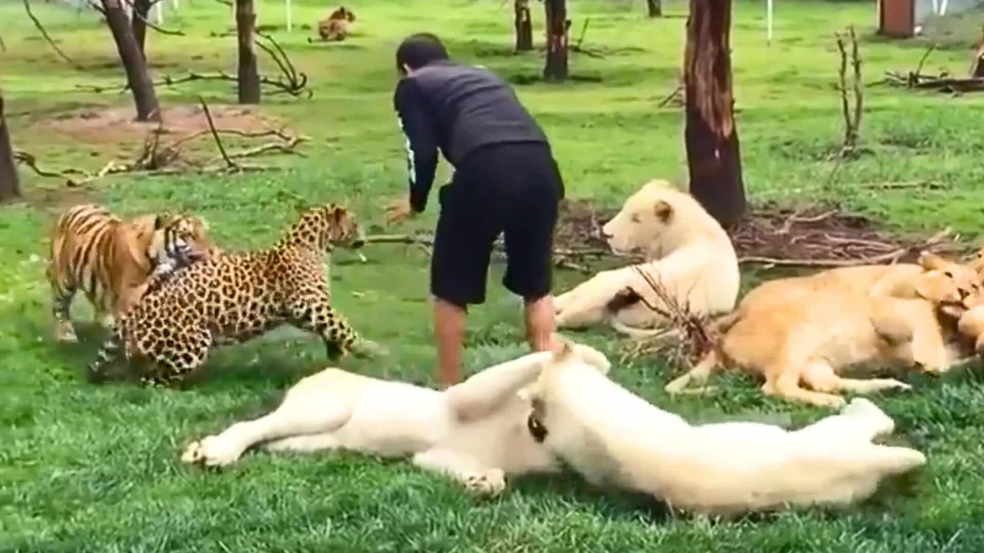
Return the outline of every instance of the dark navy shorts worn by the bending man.
<path id="1" fill-rule="evenodd" d="M 440 190 L 431 293 L 461 307 L 483 303 L 492 245 L 502 233 L 503 284 L 527 301 L 549 294 L 563 198 L 564 183 L 546 144 L 497 144 L 467 154 Z"/>

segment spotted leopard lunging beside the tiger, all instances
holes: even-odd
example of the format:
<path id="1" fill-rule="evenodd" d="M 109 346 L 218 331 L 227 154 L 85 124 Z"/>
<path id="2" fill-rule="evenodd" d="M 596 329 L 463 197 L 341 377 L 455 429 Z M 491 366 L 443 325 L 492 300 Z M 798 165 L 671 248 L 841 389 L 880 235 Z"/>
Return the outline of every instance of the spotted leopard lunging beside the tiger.
<path id="1" fill-rule="evenodd" d="M 344 207 L 308 209 L 273 248 L 224 251 L 208 260 L 152 276 L 148 292 L 117 320 L 89 365 L 93 384 L 125 357 L 148 386 L 180 388 L 214 346 L 257 338 L 282 325 L 318 335 L 330 359 L 381 352 L 332 307 L 325 258 L 336 246 L 365 242 Z"/>

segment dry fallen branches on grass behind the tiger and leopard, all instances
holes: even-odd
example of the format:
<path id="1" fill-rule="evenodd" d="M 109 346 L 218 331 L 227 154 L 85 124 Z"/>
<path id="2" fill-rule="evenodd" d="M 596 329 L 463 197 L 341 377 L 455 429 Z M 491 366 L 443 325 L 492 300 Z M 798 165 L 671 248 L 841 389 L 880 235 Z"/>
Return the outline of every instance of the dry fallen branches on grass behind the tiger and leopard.
<path id="1" fill-rule="evenodd" d="M 69 187 L 79 187 L 88 184 L 96 179 L 107 175 L 142 172 L 152 175 L 177 174 L 182 172 L 197 173 L 236 173 L 246 171 L 263 171 L 273 167 L 267 165 L 246 164 L 241 160 L 247 157 L 255 157 L 262 154 L 304 154 L 298 152 L 297 147 L 307 140 L 304 136 L 288 134 L 283 129 L 267 130 L 260 132 L 246 132 L 237 129 L 217 129 L 212 118 L 212 111 L 204 99 L 199 98 L 205 117 L 209 123 L 209 128 L 188 136 L 180 138 L 169 144 L 161 142 L 161 136 L 165 134 L 163 124 L 148 134 L 144 140 L 141 151 L 135 158 L 129 161 L 111 160 L 98 170 L 91 172 L 78 168 L 67 168 L 59 170 L 49 170 L 41 168 L 37 163 L 37 158 L 27 152 L 15 151 L 14 159 L 31 168 L 38 176 L 48 178 L 65 179 Z M 182 148 L 204 136 L 212 136 L 218 155 L 205 162 L 196 162 L 185 159 L 182 156 Z M 273 137 L 276 140 L 238 151 L 229 151 L 222 143 L 221 135 L 231 135 L 246 139 Z M 182 163 L 183 161 L 183 163 Z"/>

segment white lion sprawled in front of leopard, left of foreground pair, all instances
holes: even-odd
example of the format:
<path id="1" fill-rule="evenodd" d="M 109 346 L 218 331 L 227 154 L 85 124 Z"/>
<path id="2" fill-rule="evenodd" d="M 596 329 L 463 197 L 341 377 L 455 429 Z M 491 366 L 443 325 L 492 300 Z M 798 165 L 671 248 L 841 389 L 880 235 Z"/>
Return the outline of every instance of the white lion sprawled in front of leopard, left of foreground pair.
<path id="1" fill-rule="evenodd" d="M 412 456 L 417 466 L 443 472 L 470 491 L 496 494 L 506 474 L 559 468 L 526 428 L 530 404 L 522 393 L 553 355 L 524 355 L 444 392 L 325 369 L 295 384 L 274 412 L 192 443 L 181 459 L 225 465 L 257 444 L 268 451 Z M 574 355 L 594 370 L 610 366 L 586 345 L 575 346 Z"/>

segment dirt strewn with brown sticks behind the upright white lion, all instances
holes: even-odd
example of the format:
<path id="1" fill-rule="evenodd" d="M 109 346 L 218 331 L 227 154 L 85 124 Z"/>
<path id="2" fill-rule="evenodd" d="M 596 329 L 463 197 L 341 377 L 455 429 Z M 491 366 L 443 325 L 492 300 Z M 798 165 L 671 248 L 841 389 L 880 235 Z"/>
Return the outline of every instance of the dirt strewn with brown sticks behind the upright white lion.
<path id="1" fill-rule="evenodd" d="M 584 200 L 564 201 L 555 235 L 556 247 L 607 250 L 601 225 L 617 213 L 599 210 Z M 960 252 L 946 234 L 931 238 L 902 236 L 881 229 L 878 221 L 844 213 L 834 206 L 793 210 L 766 205 L 753 210 L 729 234 L 745 263 L 834 267 L 857 263 L 914 261 L 920 251 Z"/>

